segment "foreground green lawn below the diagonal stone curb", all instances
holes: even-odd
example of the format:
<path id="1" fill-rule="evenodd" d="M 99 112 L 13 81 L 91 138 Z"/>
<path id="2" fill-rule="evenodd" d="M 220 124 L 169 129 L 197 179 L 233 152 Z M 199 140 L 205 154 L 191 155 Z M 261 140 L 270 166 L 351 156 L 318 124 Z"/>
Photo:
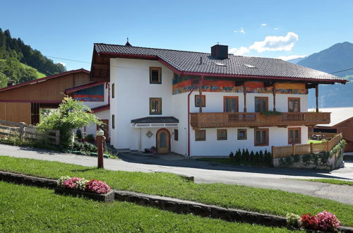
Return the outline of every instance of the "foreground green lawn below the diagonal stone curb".
<path id="1" fill-rule="evenodd" d="M 0 232 L 288 232 L 0 181 Z"/>

